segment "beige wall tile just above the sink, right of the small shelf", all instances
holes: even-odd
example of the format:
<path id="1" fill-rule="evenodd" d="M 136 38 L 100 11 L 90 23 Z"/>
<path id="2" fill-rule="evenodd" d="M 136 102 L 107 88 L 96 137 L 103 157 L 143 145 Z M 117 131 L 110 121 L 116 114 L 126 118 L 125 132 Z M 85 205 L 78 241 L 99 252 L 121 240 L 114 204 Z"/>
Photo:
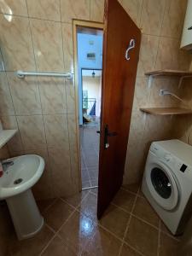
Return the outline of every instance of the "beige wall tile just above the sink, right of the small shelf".
<path id="1" fill-rule="evenodd" d="M 17 116 L 20 137 L 26 150 L 43 148 L 45 145 L 42 115 Z"/>

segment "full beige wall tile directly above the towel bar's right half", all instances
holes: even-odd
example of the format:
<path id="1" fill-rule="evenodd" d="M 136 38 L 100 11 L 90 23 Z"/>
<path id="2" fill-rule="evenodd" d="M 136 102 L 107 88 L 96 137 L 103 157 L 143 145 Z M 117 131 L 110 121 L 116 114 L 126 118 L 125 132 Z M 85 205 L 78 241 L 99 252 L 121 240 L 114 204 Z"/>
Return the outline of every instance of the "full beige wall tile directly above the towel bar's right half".
<path id="1" fill-rule="evenodd" d="M 63 72 L 61 23 L 30 20 L 38 71 Z"/>

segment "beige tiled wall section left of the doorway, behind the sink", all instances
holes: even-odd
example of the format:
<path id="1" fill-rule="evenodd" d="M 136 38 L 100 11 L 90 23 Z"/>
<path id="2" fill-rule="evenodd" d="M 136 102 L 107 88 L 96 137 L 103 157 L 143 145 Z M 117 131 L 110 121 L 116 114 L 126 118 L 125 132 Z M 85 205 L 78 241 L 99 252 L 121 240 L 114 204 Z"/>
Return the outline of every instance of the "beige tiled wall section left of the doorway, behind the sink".
<path id="1" fill-rule="evenodd" d="M 0 11 L 0 119 L 4 129 L 19 130 L 9 154 L 44 157 L 37 198 L 73 194 L 79 190 L 73 82 L 18 79 L 14 72 L 73 71 L 72 19 L 102 21 L 103 2 L 5 0 Z"/>

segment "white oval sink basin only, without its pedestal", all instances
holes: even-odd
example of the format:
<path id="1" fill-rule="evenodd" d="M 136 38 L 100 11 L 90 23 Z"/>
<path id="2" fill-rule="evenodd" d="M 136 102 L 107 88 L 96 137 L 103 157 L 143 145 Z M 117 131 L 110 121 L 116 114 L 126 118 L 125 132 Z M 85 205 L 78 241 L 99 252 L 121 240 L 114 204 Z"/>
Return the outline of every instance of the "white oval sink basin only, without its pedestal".
<path id="1" fill-rule="evenodd" d="M 0 199 L 18 195 L 30 189 L 44 172 L 44 159 L 36 154 L 21 155 L 9 159 L 13 161 L 0 177 Z"/>

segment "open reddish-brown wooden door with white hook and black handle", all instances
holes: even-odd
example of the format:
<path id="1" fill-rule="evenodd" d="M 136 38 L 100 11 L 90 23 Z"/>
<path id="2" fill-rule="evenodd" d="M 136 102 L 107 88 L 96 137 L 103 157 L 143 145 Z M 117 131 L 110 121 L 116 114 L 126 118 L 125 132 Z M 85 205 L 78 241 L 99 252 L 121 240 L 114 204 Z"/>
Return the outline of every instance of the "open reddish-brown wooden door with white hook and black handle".
<path id="1" fill-rule="evenodd" d="M 105 1 L 97 217 L 119 190 L 131 123 L 141 32 L 117 0 Z"/>

